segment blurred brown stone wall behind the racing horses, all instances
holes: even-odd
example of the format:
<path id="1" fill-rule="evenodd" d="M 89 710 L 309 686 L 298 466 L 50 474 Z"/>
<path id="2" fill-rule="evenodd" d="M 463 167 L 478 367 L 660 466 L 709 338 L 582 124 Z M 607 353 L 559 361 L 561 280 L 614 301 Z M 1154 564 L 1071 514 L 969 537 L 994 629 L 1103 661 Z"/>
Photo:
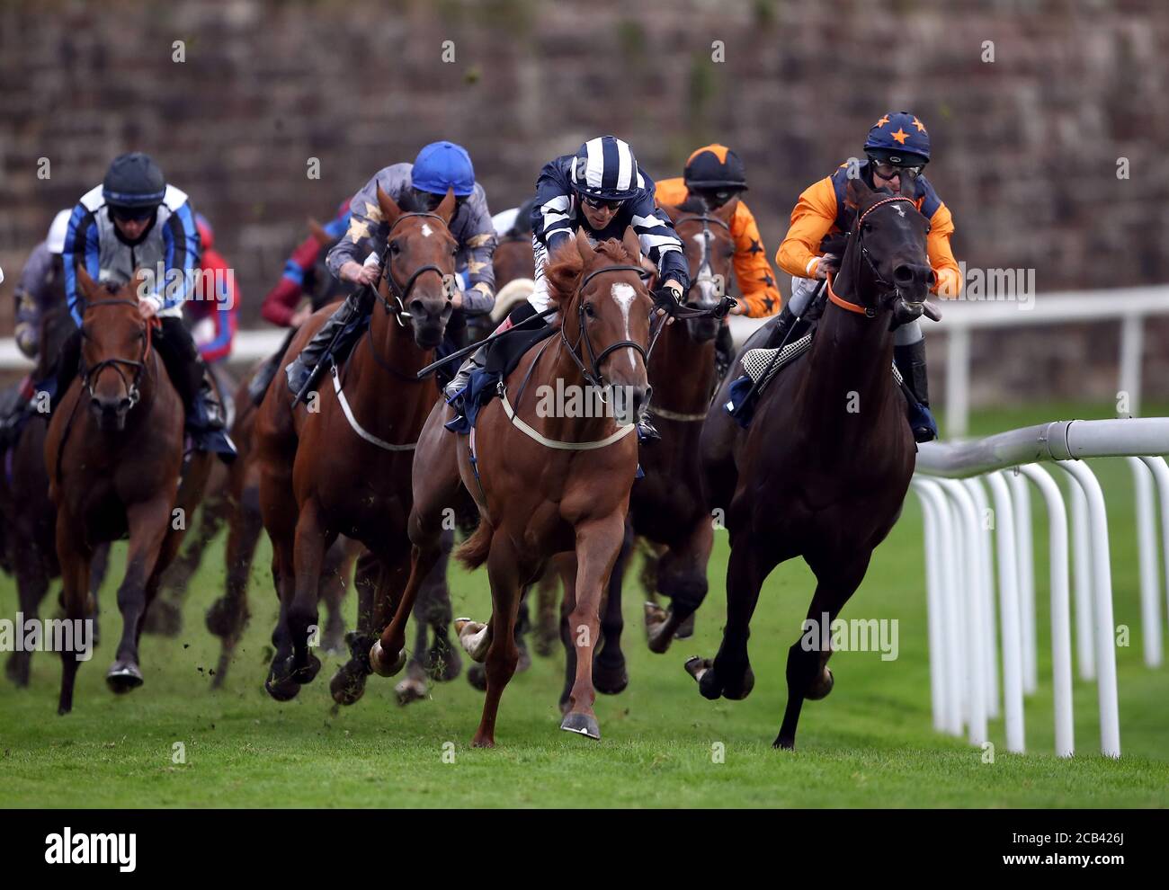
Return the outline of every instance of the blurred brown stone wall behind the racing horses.
<path id="1" fill-rule="evenodd" d="M 492 209 L 596 134 L 656 178 L 724 141 L 774 253 L 798 193 L 890 109 L 929 127 L 970 266 L 1035 267 L 1040 294 L 1164 283 L 1167 57 L 1164 0 L 7 0 L 0 334 L 28 250 L 123 151 L 154 155 L 210 218 L 248 327 L 305 218 L 430 140 L 468 146 Z M 1114 325 L 976 335 L 975 403 L 1111 399 L 1116 341 Z M 1169 396 L 1169 325 L 1149 325 L 1144 367 L 1146 397 Z"/>

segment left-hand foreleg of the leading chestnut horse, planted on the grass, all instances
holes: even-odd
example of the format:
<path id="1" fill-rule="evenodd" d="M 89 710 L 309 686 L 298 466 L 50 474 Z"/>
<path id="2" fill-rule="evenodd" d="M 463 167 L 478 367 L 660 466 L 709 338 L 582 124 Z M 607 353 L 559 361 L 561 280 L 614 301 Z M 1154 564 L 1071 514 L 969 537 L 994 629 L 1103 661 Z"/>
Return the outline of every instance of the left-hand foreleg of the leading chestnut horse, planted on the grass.
<path id="1" fill-rule="evenodd" d="M 507 535 L 494 535 L 487 555 L 491 580 L 491 646 L 485 670 L 487 693 L 483 698 L 483 717 L 471 739 L 475 748 L 496 746 L 496 717 L 504 688 L 516 673 L 519 648 L 516 646 L 516 618 L 519 613 L 519 554 Z"/>

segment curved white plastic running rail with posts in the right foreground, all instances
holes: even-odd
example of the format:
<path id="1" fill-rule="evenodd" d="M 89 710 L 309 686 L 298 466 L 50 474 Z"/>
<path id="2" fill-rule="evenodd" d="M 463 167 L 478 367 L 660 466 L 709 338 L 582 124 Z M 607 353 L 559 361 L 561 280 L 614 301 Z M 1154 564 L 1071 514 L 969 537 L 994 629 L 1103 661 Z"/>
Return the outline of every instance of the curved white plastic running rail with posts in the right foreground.
<path id="1" fill-rule="evenodd" d="M 1042 466 L 1052 463 L 1068 478 L 1075 543 L 1075 618 L 1081 679 L 1098 684 L 1100 750 L 1120 757 L 1116 628 L 1113 619 L 1108 517 L 1104 492 L 1081 458 L 1127 458 L 1136 486 L 1144 662 L 1162 663 L 1158 538 L 1169 595 L 1169 418 L 1057 420 L 966 443 L 928 443 L 918 453 L 913 489 L 926 526 L 931 695 L 934 726 L 971 744 L 987 742 L 987 721 L 998 710 L 1002 652 L 1007 746 L 1023 752 L 1024 695 L 1037 687 L 1035 577 L 1030 496 L 1024 480 L 1043 495 L 1049 517 L 1052 672 L 1056 753 L 1071 757 L 1072 644 L 1068 589 L 1067 509 Z M 990 488 L 991 501 L 980 480 Z M 991 543 L 994 533 L 994 543 Z M 998 638 L 995 633 L 996 554 Z M 1001 641 L 1001 647 L 999 647 Z"/>

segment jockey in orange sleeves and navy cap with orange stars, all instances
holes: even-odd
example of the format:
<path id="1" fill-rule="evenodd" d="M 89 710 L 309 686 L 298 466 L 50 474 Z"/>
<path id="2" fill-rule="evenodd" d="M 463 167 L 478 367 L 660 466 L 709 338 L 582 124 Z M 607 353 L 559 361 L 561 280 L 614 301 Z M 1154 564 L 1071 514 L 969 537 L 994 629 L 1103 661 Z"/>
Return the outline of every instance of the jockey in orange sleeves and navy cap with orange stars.
<path id="1" fill-rule="evenodd" d="M 926 251 L 938 277 L 933 290 L 942 297 L 956 297 L 962 276 L 950 236 L 954 220 L 922 171 L 929 162 L 929 133 L 908 111 L 891 111 L 873 124 L 865 140 L 864 161 L 842 164 L 836 173 L 812 183 L 791 211 L 791 228 L 775 253 L 775 262 L 793 276 L 791 299 L 783 307 L 766 343 L 776 347 L 807 311 L 819 283 L 839 269 L 841 257 L 825 252 L 829 235 L 846 234 L 852 228 L 855 211 L 845 207 L 844 190 L 850 175 L 859 176 L 873 189 L 913 199 L 929 220 Z M 901 325 L 893 335 L 893 360 L 916 405 L 909 408 L 909 425 L 918 441 L 938 437 L 938 424 L 929 411 L 926 376 L 926 342 L 920 321 Z"/>

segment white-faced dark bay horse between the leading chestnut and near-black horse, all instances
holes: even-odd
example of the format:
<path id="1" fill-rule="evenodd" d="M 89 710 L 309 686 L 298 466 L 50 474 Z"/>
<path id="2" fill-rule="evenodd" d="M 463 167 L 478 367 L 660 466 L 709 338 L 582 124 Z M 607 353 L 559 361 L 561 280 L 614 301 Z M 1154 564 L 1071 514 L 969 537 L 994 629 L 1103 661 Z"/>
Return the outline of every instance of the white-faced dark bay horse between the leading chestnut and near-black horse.
<path id="1" fill-rule="evenodd" d="M 664 207 L 686 251 L 691 288 L 689 305 L 713 310 L 731 278 L 734 238 L 731 218 L 736 202 L 707 213 L 698 199 L 679 207 Z M 616 694 L 629 683 L 621 651 L 622 582 L 632 552 L 632 535 L 660 548 L 653 558 L 656 587 L 670 597 L 669 612 L 646 604 L 646 630 L 653 652 L 665 652 L 675 633 L 706 596 L 706 563 L 714 533 L 701 495 L 698 437 L 714 390 L 714 338 L 720 320 L 713 315 L 691 318 L 663 329 L 650 357 L 653 401 L 649 411 L 657 420 L 660 441 L 642 449 L 643 479 L 634 486 L 629 502 L 630 534 L 609 580 L 609 597 L 601 619 L 604 645 L 593 666 L 597 691 Z M 650 556 L 645 557 L 651 558 Z M 562 630 L 562 638 L 567 633 Z M 574 667 L 573 647 L 566 646 L 566 684 Z"/>

